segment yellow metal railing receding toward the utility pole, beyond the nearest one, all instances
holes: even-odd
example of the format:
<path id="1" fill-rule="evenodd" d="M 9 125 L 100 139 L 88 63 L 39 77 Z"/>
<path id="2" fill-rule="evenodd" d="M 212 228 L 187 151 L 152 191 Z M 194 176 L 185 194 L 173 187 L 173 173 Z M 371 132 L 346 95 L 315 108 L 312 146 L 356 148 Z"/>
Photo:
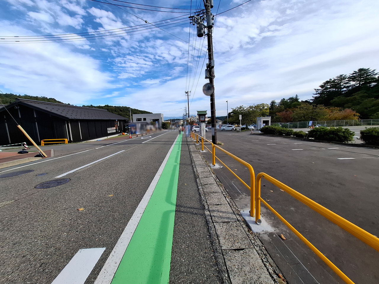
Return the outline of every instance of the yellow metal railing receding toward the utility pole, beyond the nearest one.
<path id="1" fill-rule="evenodd" d="M 202 136 L 200 136 L 194 132 L 191 132 L 191 137 L 194 140 L 196 140 L 196 144 L 199 144 L 199 137 L 201 137 L 201 139 L 200 139 L 201 140 L 201 150 L 204 151 L 204 147 L 205 147 L 208 151 L 210 151 L 210 153 L 212 154 L 212 165 L 215 165 L 216 159 L 218 159 L 218 161 L 220 161 L 221 164 L 224 165 L 224 167 L 226 167 L 239 181 L 241 181 L 241 183 L 244 186 L 246 186 L 250 190 L 250 206 L 251 206 L 250 215 L 251 215 L 251 217 L 254 217 L 254 213 L 255 213 L 255 209 L 254 209 L 255 208 L 255 198 L 254 198 L 254 196 L 255 196 L 255 173 L 254 173 L 253 167 L 248 162 L 245 162 L 244 160 L 238 158 L 237 156 L 233 155 L 232 153 L 229 153 L 228 151 L 222 149 L 218 145 L 213 144 L 210 140 L 207 140 L 204 137 L 202 137 Z M 212 150 L 209 150 L 208 147 L 204 145 L 204 141 L 211 144 Z M 236 173 L 233 172 L 224 162 L 222 162 L 220 158 L 218 158 L 216 156 L 216 148 L 218 150 L 224 152 L 228 156 L 232 157 L 236 161 L 240 162 L 241 164 L 245 165 L 247 167 L 247 169 L 249 169 L 250 186 L 247 183 L 245 183 L 238 175 L 236 175 Z"/>

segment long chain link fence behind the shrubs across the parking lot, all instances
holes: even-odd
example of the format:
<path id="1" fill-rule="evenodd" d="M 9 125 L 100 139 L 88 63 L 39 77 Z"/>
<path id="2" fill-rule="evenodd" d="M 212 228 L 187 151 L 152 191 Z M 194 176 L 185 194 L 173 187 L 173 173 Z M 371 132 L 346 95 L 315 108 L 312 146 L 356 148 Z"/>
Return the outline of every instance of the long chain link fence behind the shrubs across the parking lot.
<path id="1" fill-rule="evenodd" d="M 309 128 L 310 126 L 318 127 L 339 127 L 339 126 L 366 126 L 366 125 L 378 125 L 379 119 L 351 119 L 351 120 L 318 120 L 313 121 L 311 124 L 309 121 L 300 122 L 272 122 L 271 125 L 280 126 L 283 128 Z"/>

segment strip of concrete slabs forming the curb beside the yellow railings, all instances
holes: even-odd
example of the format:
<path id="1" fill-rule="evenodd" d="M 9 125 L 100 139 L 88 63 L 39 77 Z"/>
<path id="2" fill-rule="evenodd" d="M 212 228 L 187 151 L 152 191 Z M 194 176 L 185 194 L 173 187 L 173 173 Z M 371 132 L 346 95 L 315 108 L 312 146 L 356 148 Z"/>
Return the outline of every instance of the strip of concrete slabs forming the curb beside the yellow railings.
<path id="1" fill-rule="evenodd" d="M 283 284 L 283 275 L 257 236 L 247 227 L 240 211 L 224 186 L 200 154 L 200 149 L 187 138 L 193 159 L 205 216 L 213 239 L 216 261 L 224 283 Z"/>

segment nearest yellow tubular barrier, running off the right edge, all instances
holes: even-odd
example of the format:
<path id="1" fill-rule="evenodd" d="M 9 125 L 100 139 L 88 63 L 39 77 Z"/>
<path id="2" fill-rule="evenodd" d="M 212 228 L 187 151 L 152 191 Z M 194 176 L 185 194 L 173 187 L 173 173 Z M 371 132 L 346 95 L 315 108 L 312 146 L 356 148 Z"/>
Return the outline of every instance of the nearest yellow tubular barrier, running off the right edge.
<path id="1" fill-rule="evenodd" d="M 289 186 L 286 186 L 285 184 L 281 183 L 277 179 L 273 178 L 272 176 L 267 175 L 266 173 L 258 173 L 257 179 L 256 179 L 256 191 L 255 191 L 255 223 L 260 224 L 260 202 L 262 201 L 263 204 L 266 205 L 268 209 L 270 209 L 285 225 L 293 231 L 293 233 L 296 234 L 318 257 L 320 257 L 332 270 L 337 273 L 338 276 L 340 276 L 343 281 L 349 284 L 354 284 L 353 281 L 351 281 L 348 276 L 346 276 L 337 266 L 335 266 L 324 254 L 322 254 L 312 243 L 309 242 L 302 234 L 300 234 L 290 223 L 288 223 L 285 218 L 283 218 L 274 208 L 272 208 L 261 196 L 261 179 L 265 178 L 267 181 L 271 182 L 272 184 L 276 185 L 280 189 L 284 190 L 288 194 L 290 194 L 292 197 L 296 198 L 297 200 L 301 201 L 308 207 L 312 208 L 319 214 L 323 215 L 336 225 L 340 226 L 345 231 L 348 231 L 353 236 L 356 236 L 358 239 L 362 240 L 362 242 L 365 242 L 370 247 L 374 248 L 375 250 L 379 251 L 379 238 L 375 237 L 374 235 L 368 233 L 367 231 L 363 230 L 362 228 L 358 227 L 357 225 L 354 225 L 353 223 L 349 222 L 348 220 L 342 218 L 341 216 L 335 214 L 334 212 L 330 211 L 329 209 L 325 208 L 324 206 L 318 204 L 317 202 L 311 200 L 310 198 L 306 197 L 305 195 L 302 195 L 301 193 L 297 192 L 296 190 L 292 189 Z M 252 208 L 252 207 L 251 207 Z M 251 209 L 252 210 L 252 209 Z"/>

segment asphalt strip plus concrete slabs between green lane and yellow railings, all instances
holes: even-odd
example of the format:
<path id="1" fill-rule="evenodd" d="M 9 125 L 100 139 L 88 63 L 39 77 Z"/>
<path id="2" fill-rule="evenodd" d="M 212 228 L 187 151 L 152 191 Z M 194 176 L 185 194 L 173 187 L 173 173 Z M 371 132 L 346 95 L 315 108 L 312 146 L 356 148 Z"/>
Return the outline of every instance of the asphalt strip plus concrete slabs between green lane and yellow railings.
<path id="1" fill-rule="evenodd" d="M 286 283 L 283 279 L 193 140 L 183 137 L 169 282 Z"/>

